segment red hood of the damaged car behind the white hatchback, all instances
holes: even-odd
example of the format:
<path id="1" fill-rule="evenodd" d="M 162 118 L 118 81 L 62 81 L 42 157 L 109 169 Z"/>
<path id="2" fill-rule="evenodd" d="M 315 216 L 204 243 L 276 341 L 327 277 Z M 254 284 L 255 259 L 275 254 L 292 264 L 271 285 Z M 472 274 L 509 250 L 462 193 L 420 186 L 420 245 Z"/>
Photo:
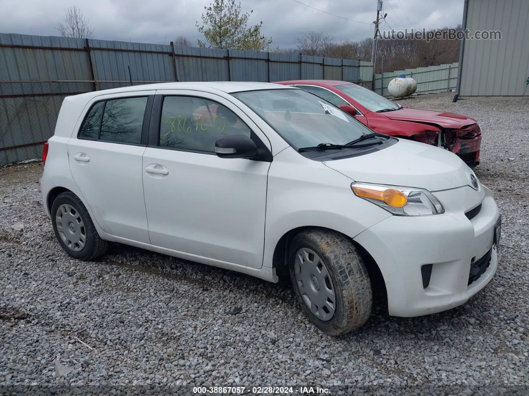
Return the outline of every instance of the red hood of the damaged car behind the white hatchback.
<path id="1" fill-rule="evenodd" d="M 393 112 L 382 113 L 389 119 L 397 121 L 424 122 L 439 125 L 442 128 L 459 129 L 476 122 L 475 119 L 455 113 L 442 113 L 422 108 L 402 108 Z"/>

